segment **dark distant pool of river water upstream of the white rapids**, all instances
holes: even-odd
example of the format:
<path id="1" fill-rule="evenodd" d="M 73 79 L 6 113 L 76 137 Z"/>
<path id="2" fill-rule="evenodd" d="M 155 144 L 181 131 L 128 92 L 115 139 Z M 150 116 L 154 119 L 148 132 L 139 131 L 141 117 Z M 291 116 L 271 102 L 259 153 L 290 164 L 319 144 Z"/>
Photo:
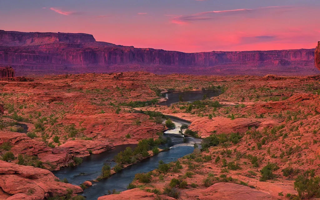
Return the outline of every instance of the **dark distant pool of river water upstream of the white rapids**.
<path id="1" fill-rule="evenodd" d="M 167 93 L 165 93 L 165 97 L 168 98 L 168 100 L 159 102 L 159 103 L 157 103 L 157 105 L 170 106 L 172 103 L 177 103 L 180 100 L 193 102 L 196 100 L 202 100 L 204 95 L 207 98 L 211 98 L 211 97 L 219 96 L 220 92 L 213 92 L 213 91 L 206 91 L 206 90 L 167 92 Z"/>

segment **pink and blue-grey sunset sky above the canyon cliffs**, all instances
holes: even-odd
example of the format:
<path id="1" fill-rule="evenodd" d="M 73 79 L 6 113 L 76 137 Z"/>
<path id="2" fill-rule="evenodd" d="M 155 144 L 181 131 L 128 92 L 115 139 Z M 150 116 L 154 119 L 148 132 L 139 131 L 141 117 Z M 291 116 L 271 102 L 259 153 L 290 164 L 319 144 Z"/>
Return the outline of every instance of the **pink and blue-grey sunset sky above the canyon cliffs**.
<path id="1" fill-rule="evenodd" d="M 0 29 L 182 52 L 311 49 L 319 0 L 1 0 Z"/>

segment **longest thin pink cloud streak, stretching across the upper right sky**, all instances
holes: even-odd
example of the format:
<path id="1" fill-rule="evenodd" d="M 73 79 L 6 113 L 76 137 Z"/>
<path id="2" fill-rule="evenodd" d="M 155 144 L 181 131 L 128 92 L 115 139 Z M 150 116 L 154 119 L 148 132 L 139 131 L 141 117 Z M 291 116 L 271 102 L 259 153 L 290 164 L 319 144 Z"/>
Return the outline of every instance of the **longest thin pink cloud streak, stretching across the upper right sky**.
<path id="1" fill-rule="evenodd" d="M 256 9 L 236 9 L 236 10 L 223 10 L 223 11 L 209 11 L 209 12 L 198 12 L 191 15 L 180 15 L 171 19 L 172 23 L 175 24 L 188 24 L 192 21 L 201 20 L 215 20 L 224 16 L 231 15 L 242 15 L 250 16 L 252 14 L 261 14 L 266 11 L 286 11 L 291 6 L 270 6 L 270 7 L 260 7 Z"/>

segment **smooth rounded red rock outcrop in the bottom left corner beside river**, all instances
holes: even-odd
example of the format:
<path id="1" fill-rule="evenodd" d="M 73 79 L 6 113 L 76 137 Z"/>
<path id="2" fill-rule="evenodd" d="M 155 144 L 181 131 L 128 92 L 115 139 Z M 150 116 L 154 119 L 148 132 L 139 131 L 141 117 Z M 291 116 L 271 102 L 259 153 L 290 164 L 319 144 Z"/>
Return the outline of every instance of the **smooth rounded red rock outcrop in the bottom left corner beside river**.
<path id="1" fill-rule="evenodd" d="M 64 196 L 68 190 L 74 193 L 83 191 L 79 186 L 60 182 L 48 170 L 1 160 L 0 187 L 10 195 L 7 200 L 42 200 L 44 197 Z"/>

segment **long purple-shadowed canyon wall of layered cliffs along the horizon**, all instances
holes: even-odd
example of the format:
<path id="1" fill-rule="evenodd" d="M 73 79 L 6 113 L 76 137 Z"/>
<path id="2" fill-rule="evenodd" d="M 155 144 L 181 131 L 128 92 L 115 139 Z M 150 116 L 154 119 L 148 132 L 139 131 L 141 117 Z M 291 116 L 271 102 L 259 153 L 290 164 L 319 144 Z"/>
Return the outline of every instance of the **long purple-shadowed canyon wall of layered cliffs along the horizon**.
<path id="1" fill-rule="evenodd" d="M 96 42 L 89 34 L 0 31 L 0 65 L 17 74 L 145 70 L 153 73 L 317 73 L 314 49 L 184 53 Z M 253 74 L 254 74 L 253 73 Z M 261 74 L 263 75 L 263 74 Z"/>

